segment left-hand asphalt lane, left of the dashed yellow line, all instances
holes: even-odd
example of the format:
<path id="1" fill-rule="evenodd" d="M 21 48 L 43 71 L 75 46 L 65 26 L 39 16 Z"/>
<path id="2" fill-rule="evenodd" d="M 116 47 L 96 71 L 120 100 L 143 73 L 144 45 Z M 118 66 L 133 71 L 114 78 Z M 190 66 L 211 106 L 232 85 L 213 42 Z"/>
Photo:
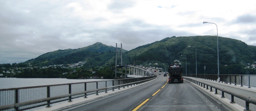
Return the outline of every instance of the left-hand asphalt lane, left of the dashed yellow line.
<path id="1" fill-rule="evenodd" d="M 162 75 L 163 76 L 163 75 Z M 84 102 L 82 105 L 60 109 L 61 111 L 129 111 L 137 107 L 142 101 L 147 99 L 167 81 L 166 78 L 159 76 L 156 80 L 148 82 L 140 87 L 128 89 L 124 92 L 111 96 L 102 97 L 94 101 Z M 56 110 L 58 111 L 58 110 Z"/>

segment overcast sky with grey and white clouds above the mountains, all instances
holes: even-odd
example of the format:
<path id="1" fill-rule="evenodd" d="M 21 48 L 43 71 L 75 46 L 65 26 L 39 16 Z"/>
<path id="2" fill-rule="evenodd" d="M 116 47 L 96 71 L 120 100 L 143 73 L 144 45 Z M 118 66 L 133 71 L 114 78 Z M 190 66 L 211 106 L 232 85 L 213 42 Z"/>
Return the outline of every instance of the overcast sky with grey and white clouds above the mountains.
<path id="1" fill-rule="evenodd" d="M 101 42 L 217 35 L 256 46 L 255 0 L 0 0 L 0 64 Z"/>

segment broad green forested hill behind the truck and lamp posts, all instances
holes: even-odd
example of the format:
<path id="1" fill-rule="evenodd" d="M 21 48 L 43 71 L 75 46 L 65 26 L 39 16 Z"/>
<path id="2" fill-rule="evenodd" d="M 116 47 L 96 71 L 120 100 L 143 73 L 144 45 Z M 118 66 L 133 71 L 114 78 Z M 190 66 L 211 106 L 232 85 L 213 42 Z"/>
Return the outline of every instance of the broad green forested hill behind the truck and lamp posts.
<path id="1" fill-rule="evenodd" d="M 231 38 L 219 38 L 220 74 L 255 74 L 255 69 L 245 69 L 248 64 L 255 64 L 256 46 Z M 191 46 L 191 47 L 188 47 Z M 196 47 L 196 48 L 195 48 Z M 185 55 L 185 56 L 180 56 Z M 216 74 L 217 67 L 217 36 L 171 37 L 142 45 L 127 53 L 131 61 L 159 61 L 170 64 L 180 60 L 187 73 Z M 143 62 L 144 63 L 144 62 Z"/>

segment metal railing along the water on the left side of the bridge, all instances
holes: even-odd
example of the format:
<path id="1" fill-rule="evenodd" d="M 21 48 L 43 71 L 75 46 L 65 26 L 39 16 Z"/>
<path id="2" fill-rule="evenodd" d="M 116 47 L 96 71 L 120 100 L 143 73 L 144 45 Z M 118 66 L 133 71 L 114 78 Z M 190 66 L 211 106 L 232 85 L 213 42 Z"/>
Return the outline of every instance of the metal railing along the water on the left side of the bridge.
<path id="1" fill-rule="evenodd" d="M 155 79 L 156 76 L 142 78 L 103 80 L 91 82 L 68 83 L 58 85 L 46 85 L 36 87 L 20 87 L 0 89 L 0 110 L 23 111 L 36 107 L 72 101 L 72 99 L 85 97 L 99 92 L 107 93 L 114 88 L 135 85 Z"/>

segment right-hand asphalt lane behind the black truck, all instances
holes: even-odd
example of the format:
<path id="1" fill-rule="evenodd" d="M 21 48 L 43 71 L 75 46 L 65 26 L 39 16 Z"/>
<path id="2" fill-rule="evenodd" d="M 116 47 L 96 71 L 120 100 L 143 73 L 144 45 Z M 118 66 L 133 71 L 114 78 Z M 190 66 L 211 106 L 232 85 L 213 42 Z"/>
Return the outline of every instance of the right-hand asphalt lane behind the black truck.
<path id="1" fill-rule="evenodd" d="M 166 86 L 138 110 L 141 111 L 228 111 L 187 80 Z M 226 107 L 226 106 L 225 106 Z"/>

